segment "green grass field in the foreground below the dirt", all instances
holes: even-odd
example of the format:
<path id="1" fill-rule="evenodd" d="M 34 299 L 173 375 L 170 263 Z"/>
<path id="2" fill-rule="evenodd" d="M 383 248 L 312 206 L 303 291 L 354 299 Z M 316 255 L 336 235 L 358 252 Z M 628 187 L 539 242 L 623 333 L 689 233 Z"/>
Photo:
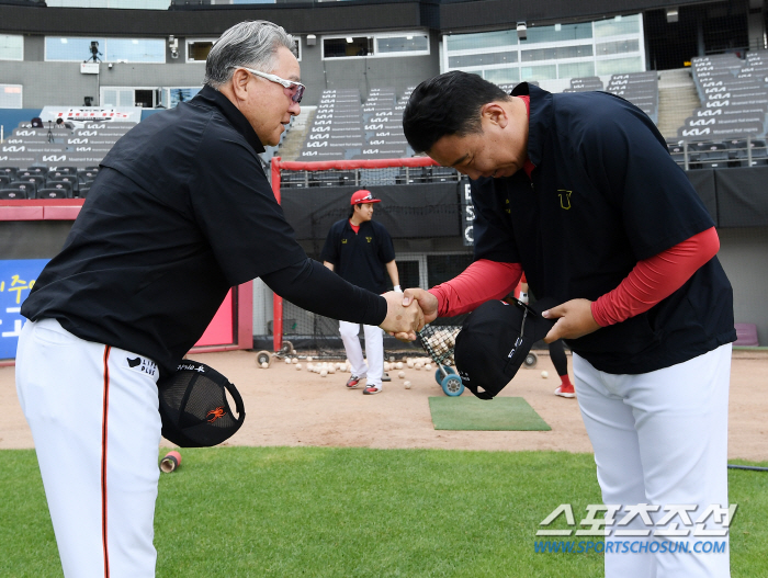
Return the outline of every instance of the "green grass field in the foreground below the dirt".
<path id="1" fill-rule="evenodd" d="M 534 552 L 541 521 L 599 503 L 589 454 L 182 450 L 160 476 L 157 576 L 599 577 L 600 554 Z M 768 575 L 768 474 L 730 471 L 732 576 Z M 60 577 L 32 451 L 0 452 L 0 576 Z M 552 528 L 567 528 L 557 520 Z"/>

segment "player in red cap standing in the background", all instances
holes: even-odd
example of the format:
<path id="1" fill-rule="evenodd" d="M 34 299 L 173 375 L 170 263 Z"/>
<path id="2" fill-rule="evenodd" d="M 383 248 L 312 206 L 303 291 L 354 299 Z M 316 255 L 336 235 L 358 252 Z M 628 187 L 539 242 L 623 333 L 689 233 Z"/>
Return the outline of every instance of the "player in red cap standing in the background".
<path id="1" fill-rule="evenodd" d="M 402 293 L 392 237 L 381 223 L 373 220 L 373 204 L 380 202 L 370 191 L 357 191 L 350 200 L 349 217 L 335 223 L 328 231 L 320 259 L 341 279 L 373 293 L 386 291 L 386 273 L 395 292 Z M 354 389 L 361 379 L 366 379 L 363 394 L 374 395 L 382 390 L 384 333 L 372 325 L 363 325 L 363 331 L 368 364 L 358 338 L 360 324 L 339 321 L 341 341 L 352 365 L 347 387 Z"/>

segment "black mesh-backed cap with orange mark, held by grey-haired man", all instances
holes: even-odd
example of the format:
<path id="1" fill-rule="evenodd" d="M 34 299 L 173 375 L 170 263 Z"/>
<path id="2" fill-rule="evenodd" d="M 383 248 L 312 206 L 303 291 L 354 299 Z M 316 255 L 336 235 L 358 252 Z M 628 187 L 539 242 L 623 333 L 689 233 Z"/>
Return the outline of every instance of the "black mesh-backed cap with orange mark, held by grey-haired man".
<path id="1" fill-rule="evenodd" d="M 246 410 L 237 388 L 204 363 L 183 360 L 158 384 L 162 437 L 180 447 L 210 447 L 228 440 L 242 426 Z M 226 393 L 235 400 L 237 417 Z"/>

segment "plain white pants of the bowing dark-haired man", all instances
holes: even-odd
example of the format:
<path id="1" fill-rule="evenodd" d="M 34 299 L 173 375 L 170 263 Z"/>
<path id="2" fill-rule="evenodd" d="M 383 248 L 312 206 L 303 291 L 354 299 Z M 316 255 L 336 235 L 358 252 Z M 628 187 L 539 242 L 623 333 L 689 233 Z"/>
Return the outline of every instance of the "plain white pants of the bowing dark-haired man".
<path id="1" fill-rule="evenodd" d="M 729 578 L 727 535 L 697 537 L 694 528 L 679 515 L 660 523 L 669 517 L 665 510 L 669 506 L 696 506 L 691 522 L 711 505 L 729 508 L 731 344 L 640 375 L 603 373 L 577 354 L 573 360 L 576 396 L 595 450 L 602 500 L 624 507 L 614 523 L 606 526 L 611 531 L 605 539 L 606 577 Z M 641 503 L 660 507 L 650 514 L 655 525 L 648 528 L 635 518 L 619 528 L 625 507 Z M 705 529 L 724 533 L 712 517 Z M 651 530 L 651 535 L 628 536 L 628 530 Z M 689 535 L 679 535 L 685 530 Z M 617 536 L 617 531 L 624 535 Z M 659 531 L 678 535 L 659 537 Z M 657 543 L 652 544 L 654 541 Z M 612 552 L 609 542 L 613 542 Z M 625 543 L 631 544 L 629 552 Z M 713 543 L 724 552 L 697 552 Z"/>

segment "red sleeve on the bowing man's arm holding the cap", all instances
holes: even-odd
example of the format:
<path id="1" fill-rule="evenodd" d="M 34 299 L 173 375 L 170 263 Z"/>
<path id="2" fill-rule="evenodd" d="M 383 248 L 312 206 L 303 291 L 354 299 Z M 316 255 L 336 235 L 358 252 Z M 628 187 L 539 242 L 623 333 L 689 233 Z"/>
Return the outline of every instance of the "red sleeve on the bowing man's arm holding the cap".
<path id="1" fill-rule="evenodd" d="M 595 321 L 608 327 L 647 311 L 680 288 L 719 250 L 720 238 L 712 227 L 637 262 L 617 288 L 592 302 Z"/>

